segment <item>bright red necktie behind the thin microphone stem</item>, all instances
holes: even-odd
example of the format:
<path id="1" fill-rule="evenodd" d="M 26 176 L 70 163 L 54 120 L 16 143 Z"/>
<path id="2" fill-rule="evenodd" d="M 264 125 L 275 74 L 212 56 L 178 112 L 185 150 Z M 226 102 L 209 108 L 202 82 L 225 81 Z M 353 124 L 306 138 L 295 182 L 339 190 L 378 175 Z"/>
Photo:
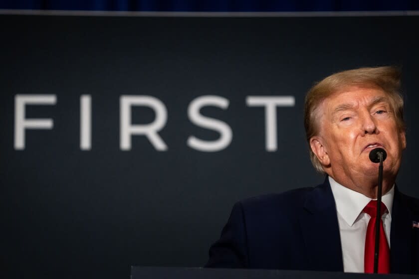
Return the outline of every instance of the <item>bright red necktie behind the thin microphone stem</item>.
<path id="1" fill-rule="evenodd" d="M 387 211 L 384 203 L 381 203 L 381 214 Z M 364 208 L 364 212 L 371 216 L 368 222 L 367 236 L 365 238 L 364 272 L 374 273 L 374 250 L 375 250 L 375 227 L 377 221 L 377 201 L 370 201 Z M 390 273 L 390 248 L 383 227 L 383 219 L 380 217 L 380 252 L 378 257 L 378 273 Z"/>

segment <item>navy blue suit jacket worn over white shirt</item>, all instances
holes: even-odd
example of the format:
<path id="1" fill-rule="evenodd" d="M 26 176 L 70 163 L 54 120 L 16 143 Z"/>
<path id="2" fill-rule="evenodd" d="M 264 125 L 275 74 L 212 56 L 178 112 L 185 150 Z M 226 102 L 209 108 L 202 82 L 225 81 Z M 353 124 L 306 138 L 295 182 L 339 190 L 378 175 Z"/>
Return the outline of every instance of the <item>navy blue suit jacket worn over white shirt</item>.
<path id="1" fill-rule="evenodd" d="M 419 273 L 419 200 L 396 187 L 391 273 Z M 329 179 L 317 187 L 250 198 L 234 205 L 209 268 L 343 271 L 335 200 Z"/>

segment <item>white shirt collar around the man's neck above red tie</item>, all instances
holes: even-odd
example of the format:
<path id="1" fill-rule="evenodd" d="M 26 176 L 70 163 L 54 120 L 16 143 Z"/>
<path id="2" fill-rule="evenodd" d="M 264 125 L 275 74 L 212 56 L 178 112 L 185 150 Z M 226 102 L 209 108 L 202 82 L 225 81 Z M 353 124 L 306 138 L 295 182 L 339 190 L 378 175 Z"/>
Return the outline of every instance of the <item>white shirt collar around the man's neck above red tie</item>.
<path id="1" fill-rule="evenodd" d="M 329 176 L 330 187 L 332 188 L 333 197 L 335 198 L 336 210 L 348 223 L 352 225 L 357 220 L 359 214 L 362 212 L 364 207 L 372 200 L 359 192 L 351 190 Z M 389 210 L 390 217 L 392 215 L 394 197 L 394 185 L 385 195 L 382 196 L 381 200 Z"/>

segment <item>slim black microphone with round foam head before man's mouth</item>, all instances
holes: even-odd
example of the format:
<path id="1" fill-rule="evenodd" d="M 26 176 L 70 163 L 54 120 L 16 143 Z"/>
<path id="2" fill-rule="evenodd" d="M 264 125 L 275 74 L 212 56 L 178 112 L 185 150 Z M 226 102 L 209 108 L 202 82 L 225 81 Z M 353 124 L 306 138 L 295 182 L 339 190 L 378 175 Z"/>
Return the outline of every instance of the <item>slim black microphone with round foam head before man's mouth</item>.
<path id="1" fill-rule="evenodd" d="M 377 218 L 376 218 L 376 239 L 374 249 L 374 273 L 378 273 L 378 255 L 380 248 L 380 222 L 381 222 L 381 196 L 383 192 L 383 162 L 387 158 L 387 152 L 383 148 L 374 148 L 370 152 L 370 160 L 380 163 L 378 167 L 378 189 L 377 189 Z"/>

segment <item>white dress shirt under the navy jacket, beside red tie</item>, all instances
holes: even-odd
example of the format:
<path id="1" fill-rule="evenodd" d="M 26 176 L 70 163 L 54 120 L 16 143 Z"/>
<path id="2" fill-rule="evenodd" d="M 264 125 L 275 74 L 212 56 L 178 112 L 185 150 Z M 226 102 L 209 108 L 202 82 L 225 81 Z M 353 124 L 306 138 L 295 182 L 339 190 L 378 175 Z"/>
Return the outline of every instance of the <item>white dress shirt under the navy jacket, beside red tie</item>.
<path id="1" fill-rule="evenodd" d="M 362 212 L 371 198 L 342 186 L 329 176 L 330 186 L 335 198 L 338 213 L 339 231 L 342 244 L 344 272 L 364 272 L 364 249 L 367 226 L 371 217 Z M 390 228 L 392 223 L 392 207 L 394 185 L 382 197 L 382 202 L 389 210 L 383 214 L 383 225 L 390 247 Z"/>

